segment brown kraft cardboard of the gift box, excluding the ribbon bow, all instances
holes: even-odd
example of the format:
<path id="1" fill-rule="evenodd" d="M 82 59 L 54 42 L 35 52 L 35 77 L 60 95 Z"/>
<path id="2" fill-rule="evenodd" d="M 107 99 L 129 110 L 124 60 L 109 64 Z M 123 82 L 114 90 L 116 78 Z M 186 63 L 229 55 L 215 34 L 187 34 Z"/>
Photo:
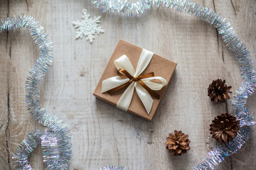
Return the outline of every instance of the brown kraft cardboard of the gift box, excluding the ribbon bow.
<path id="1" fill-rule="evenodd" d="M 117 43 L 117 47 L 115 48 L 112 54 L 112 57 L 110 58 L 110 61 L 107 63 L 107 67 L 103 72 L 102 77 L 100 78 L 100 81 L 97 84 L 95 91 L 93 92 L 93 95 L 96 96 L 97 98 L 100 98 L 103 101 L 106 101 L 107 103 L 112 104 L 113 106 L 116 106 L 117 101 L 119 101 L 119 98 L 122 96 L 122 94 L 124 93 L 125 89 L 127 89 L 127 87 L 119 89 L 119 91 L 116 91 L 113 94 L 107 94 L 107 93 L 102 94 L 101 93 L 102 81 L 110 77 L 118 76 L 117 69 L 114 66 L 114 60 L 116 60 L 122 55 L 127 55 L 129 60 L 132 62 L 132 66 L 134 67 L 134 69 L 136 69 L 137 62 L 139 60 L 139 56 L 141 55 L 141 52 L 142 52 L 141 47 L 132 45 L 131 43 L 126 42 L 124 40 L 119 40 L 119 42 Z M 174 74 L 175 67 L 176 67 L 175 62 L 171 62 L 170 60 L 166 60 L 165 58 L 154 54 L 151 59 L 151 62 L 149 62 L 149 65 L 146 67 L 146 69 L 144 69 L 144 72 L 142 72 L 141 75 L 147 74 L 149 72 L 154 72 L 154 76 L 164 77 L 164 79 L 166 79 L 167 81 L 167 84 L 160 91 L 156 91 L 156 93 L 160 95 L 159 99 L 154 98 L 152 96 L 154 102 L 149 115 L 146 113 L 146 109 L 144 108 L 142 101 L 137 95 L 136 90 L 134 90 L 134 94 L 132 97 L 131 104 L 128 108 L 128 112 L 134 115 L 137 115 L 141 118 L 144 118 L 146 120 L 152 120 L 159 106 L 159 103 L 164 97 L 166 89 L 170 84 L 171 76 Z"/>

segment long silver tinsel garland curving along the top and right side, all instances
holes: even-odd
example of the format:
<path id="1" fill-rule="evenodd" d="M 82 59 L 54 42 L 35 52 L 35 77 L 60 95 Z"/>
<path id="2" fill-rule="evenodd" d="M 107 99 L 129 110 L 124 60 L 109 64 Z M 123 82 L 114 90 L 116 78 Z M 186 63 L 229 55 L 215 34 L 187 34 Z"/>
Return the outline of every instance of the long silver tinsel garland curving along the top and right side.
<path id="1" fill-rule="evenodd" d="M 92 0 L 92 4 L 95 4 L 103 12 L 124 13 L 124 15 L 128 16 L 143 14 L 154 7 L 171 8 L 201 18 L 218 30 L 218 33 L 222 35 L 225 45 L 227 45 L 230 51 L 234 52 L 242 74 L 242 85 L 235 92 L 232 101 L 233 115 L 240 120 L 240 130 L 235 140 L 229 142 L 227 146 L 218 145 L 218 147 L 208 152 L 206 157 L 195 169 L 214 169 L 225 157 L 238 152 L 250 137 L 250 126 L 255 125 L 252 115 L 248 112 L 246 103 L 247 98 L 255 91 L 256 74 L 250 58 L 250 52 L 247 50 L 245 44 L 239 40 L 238 35 L 236 35 L 230 23 L 225 18 L 222 18 L 219 13 L 192 1 L 139 0 L 132 2 L 129 0 Z"/>

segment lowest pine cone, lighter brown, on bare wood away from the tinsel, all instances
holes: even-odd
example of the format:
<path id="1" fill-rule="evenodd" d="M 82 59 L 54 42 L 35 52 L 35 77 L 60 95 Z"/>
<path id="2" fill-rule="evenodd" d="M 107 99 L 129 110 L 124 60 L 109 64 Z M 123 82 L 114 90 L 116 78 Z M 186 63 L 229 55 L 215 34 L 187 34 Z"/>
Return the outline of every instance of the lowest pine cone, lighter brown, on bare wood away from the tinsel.
<path id="1" fill-rule="evenodd" d="M 184 135 L 181 130 L 174 130 L 174 134 L 170 133 L 166 139 L 166 149 L 169 150 L 170 154 L 181 156 L 181 154 L 185 154 L 190 149 L 189 143 L 191 141 L 188 140 L 188 135 Z"/>

